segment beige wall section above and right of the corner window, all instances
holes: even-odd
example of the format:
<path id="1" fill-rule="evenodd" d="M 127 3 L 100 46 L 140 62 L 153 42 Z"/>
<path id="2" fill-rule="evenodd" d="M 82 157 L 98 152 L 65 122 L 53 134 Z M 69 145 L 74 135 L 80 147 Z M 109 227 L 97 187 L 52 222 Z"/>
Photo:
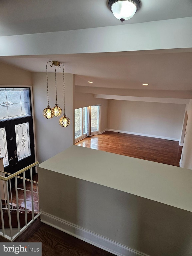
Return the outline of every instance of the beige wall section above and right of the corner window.
<path id="1" fill-rule="evenodd" d="M 91 93 L 75 92 L 74 109 L 101 104 L 101 131 L 107 129 L 108 100 L 94 98 Z"/>

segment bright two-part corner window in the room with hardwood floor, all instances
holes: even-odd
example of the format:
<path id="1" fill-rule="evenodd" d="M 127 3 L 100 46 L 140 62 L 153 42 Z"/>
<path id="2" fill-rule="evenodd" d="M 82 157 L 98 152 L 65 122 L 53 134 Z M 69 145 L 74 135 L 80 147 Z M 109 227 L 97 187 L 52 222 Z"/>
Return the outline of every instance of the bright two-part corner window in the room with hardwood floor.
<path id="1" fill-rule="evenodd" d="M 91 133 L 97 133 L 100 128 L 100 106 L 91 106 L 91 123 L 87 120 L 87 107 L 75 109 L 75 139 L 86 137 L 87 127 L 91 125 Z"/>

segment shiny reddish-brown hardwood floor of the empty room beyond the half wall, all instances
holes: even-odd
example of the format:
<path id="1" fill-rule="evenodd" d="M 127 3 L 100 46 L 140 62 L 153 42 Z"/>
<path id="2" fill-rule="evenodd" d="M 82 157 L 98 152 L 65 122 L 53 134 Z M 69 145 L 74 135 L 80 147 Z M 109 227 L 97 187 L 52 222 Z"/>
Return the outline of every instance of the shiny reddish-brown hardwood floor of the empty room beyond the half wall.
<path id="1" fill-rule="evenodd" d="M 174 166 L 179 166 L 182 152 L 178 141 L 112 131 L 86 137 L 75 145 Z"/>

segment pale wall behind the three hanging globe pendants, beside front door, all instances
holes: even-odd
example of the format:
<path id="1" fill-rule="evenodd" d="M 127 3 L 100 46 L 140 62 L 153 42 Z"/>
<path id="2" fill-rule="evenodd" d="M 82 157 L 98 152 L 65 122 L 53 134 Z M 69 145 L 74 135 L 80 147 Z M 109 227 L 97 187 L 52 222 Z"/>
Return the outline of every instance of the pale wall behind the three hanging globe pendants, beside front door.
<path id="1" fill-rule="evenodd" d="M 62 128 L 60 117 L 46 119 L 43 110 L 47 105 L 46 73 L 32 73 L 35 111 L 37 161 L 40 163 L 73 145 L 73 74 L 65 74 L 65 114 L 70 125 Z M 55 74 L 48 74 L 49 105 L 55 106 Z M 57 102 L 63 110 L 63 74 L 57 74 Z M 62 113 L 63 114 L 63 113 Z"/>

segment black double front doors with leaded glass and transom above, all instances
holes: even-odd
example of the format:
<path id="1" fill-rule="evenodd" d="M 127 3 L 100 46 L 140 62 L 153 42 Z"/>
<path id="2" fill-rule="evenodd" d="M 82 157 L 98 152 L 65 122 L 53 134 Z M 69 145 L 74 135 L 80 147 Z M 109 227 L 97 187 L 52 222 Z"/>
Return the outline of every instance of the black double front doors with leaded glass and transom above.
<path id="1" fill-rule="evenodd" d="M 15 173 L 35 162 L 31 113 L 29 88 L 0 88 L 0 156 L 5 172 Z"/>

